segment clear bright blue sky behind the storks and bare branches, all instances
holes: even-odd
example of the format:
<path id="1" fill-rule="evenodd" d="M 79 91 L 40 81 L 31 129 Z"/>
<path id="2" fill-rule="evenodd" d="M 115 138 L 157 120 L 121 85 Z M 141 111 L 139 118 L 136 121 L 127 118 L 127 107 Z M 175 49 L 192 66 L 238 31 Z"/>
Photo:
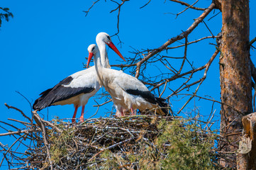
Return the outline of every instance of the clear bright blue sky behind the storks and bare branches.
<path id="1" fill-rule="evenodd" d="M 179 13 L 184 9 L 184 6 L 169 1 L 164 3 L 164 0 L 151 1 L 148 6 L 139 9 L 147 2 L 148 0 L 139 3 L 128 1 L 126 6 L 122 8 L 119 36 L 124 44 L 120 47 L 116 37 L 113 37 L 112 40 L 124 57 L 132 55 L 129 52 L 132 51 L 131 47 L 139 50 L 160 47 L 169 38 L 182 33 L 182 30 L 187 30 L 194 22 L 194 18 L 199 17 L 202 13 L 202 11 L 189 9 L 175 18 L 175 16 L 165 13 Z M 109 13 L 113 8 L 116 8 L 116 4 L 111 1 L 101 1 L 85 17 L 83 11 L 87 11 L 91 4 L 92 1 L 85 0 L 1 1 L 0 6 L 10 8 L 14 15 L 14 18 L 11 18 L 8 23 L 6 21 L 2 23 L 0 30 L 1 121 L 11 123 L 7 118 L 24 120 L 17 111 L 8 110 L 4 103 L 20 108 L 26 115 L 30 115 L 28 102 L 15 91 L 26 96 L 33 104 L 42 91 L 51 88 L 70 74 L 83 69 L 82 63 L 87 62 L 84 58 L 88 56 L 87 47 L 95 43 L 97 33 L 102 31 L 109 35 L 116 33 L 117 13 L 116 11 Z M 210 0 L 201 0 L 196 6 L 206 8 L 210 4 Z M 255 1 L 250 1 L 250 8 L 255 7 Z M 218 11 L 216 10 L 215 13 Z M 207 18 L 213 15 L 212 12 Z M 255 16 L 256 11 L 251 10 L 250 39 L 256 36 Z M 211 21 L 206 20 L 206 23 L 213 34 L 217 35 L 221 31 L 221 14 Z M 194 33 L 189 35 L 189 41 L 208 35 L 211 34 L 201 23 L 199 28 L 196 28 Z M 216 40 L 204 40 L 204 42 L 189 46 L 188 58 L 194 62 L 195 67 L 205 64 L 215 51 L 213 45 L 208 45 L 209 42 L 215 43 Z M 179 42 L 175 45 L 179 45 Z M 169 55 L 173 57 L 182 57 L 183 54 L 184 48 L 169 50 Z M 256 61 L 255 52 L 251 52 L 251 55 L 252 60 Z M 108 51 L 108 56 L 110 56 L 111 64 L 126 64 L 121 62 L 111 50 Z M 154 73 L 148 72 L 147 74 Z M 199 75 L 201 76 L 201 74 Z M 174 82 L 170 84 L 170 86 L 175 86 Z M 199 94 L 211 96 L 219 101 L 218 58 L 213 62 L 208 78 Z M 168 96 L 168 91 L 163 97 L 165 96 Z M 177 111 L 182 103 L 175 101 L 174 98 L 172 100 L 173 109 Z M 97 101 L 99 103 L 104 102 Z M 95 113 L 96 107 L 91 107 L 95 104 L 91 98 L 85 108 L 87 112 L 85 118 Z M 211 112 L 211 102 L 191 101 L 187 111 L 194 108 L 194 105 L 199 107 L 200 113 L 207 115 Z M 111 111 L 111 105 L 101 109 L 96 117 L 104 116 L 107 111 Z M 215 104 L 214 109 L 216 109 L 216 119 L 219 119 L 220 105 Z M 42 116 L 46 116 L 48 111 L 50 120 L 55 115 L 59 118 L 71 118 L 74 107 L 71 105 L 51 106 L 40 113 Z M 79 115 L 80 110 L 77 113 L 77 116 Z M 17 125 L 16 123 L 13 124 Z M 6 131 L 0 128 L 0 132 Z M 9 140 L 9 137 L 0 138 L 2 143 L 5 143 L 5 140 Z"/>

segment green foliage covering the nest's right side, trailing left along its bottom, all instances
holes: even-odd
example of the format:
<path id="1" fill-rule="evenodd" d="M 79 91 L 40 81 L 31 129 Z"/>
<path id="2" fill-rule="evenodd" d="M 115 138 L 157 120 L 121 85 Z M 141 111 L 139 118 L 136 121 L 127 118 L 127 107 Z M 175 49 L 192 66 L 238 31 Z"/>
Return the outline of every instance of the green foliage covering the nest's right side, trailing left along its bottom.
<path id="1" fill-rule="evenodd" d="M 110 150 L 101 154 L 101 169 L 218 169 L 213 152 L 216 135 L 201 129 L 195 119 L 162 120 L 153 142 L 137 141 L 125 156 Z M 96 166 L 91 166 L 96 168 Z"/>

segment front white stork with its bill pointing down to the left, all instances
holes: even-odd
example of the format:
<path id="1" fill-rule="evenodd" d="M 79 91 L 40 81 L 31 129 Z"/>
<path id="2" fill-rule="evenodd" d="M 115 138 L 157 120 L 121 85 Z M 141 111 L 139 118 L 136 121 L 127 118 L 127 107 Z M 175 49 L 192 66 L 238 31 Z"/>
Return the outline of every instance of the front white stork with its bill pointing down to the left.
<path id="1" fill-rule="evenodd" d="M 113 103 L 116 106 L 116 116 L 122 116 L 131 111 L 136 113 L 136 109 L 145 111 L 160 107 L 167 107 L 165 99 L 156 98 L 150 93 L 148 88 L 138 79 L 124 72 L 108 69 L 103 67 L 101 54 L 96 45 L 89 45 L 88 62 L 94 56 L 94 65 L 98 76 L 98 81 L 101 86 L 104 86 L 106 91 L 111 95 Z M 167 108 L 157 108 L 156 112 L 160 115 L 167 115 Z"/>

